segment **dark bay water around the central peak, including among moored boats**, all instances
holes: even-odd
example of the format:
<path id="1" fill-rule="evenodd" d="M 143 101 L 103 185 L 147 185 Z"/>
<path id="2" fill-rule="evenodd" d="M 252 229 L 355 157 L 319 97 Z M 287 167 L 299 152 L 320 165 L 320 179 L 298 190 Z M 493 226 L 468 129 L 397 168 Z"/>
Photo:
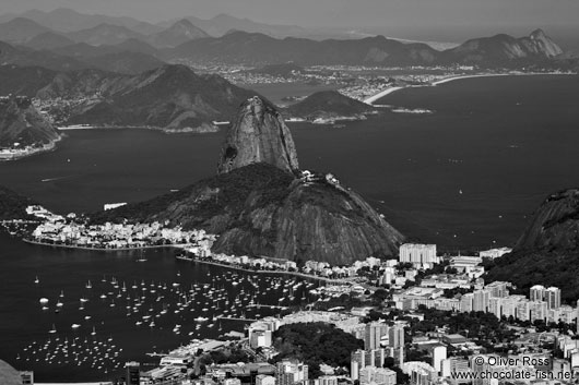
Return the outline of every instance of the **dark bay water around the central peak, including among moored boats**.
<path id="1" fill-rule="evenodd" d="M 283 93 L 288 91 L 275 91 Z M 473 79 L 409 88 L 379 101 L 426 108 L 432 115 L 385 112 L 345 128 L 290 127 L 303 169 L 331 171 L 411 239 L 465 252 L 511 245 L 544 197 L 579 184 L 577 100 L 578 76 Z M 67 135 L 52 153 L 0 164 L 0 183 L 60 213 L 91 212 L 105 203 L 145 200 L 211 177 L 224 139 L 223 132 L 165 135 L 146 130 Z M 138 256 L 46 249 L 0 236 L 0 359 L 21 370 L 34 369 L 40 381 L 102 380 L 114 369 L 104 374 L 104 369 L 84 364 L 46 364 L 34 357 L 25 361 L 23 349 L 48 338 L 55 344 L 57 336 L 68 338 L 68 344 L 76 336 L 88 341 L 94 337 L 105 339 L 101 341 L 108 348 L 115 345 L 111 354 L 123 348 L 117 361 L 142 360 L 144 352 L 187 342 L 190 332 L 211 336 L 214 332 L 205 326 L 192 326 L 203 314 L 197 308 L 185 320 L 169 317 L 151 329 L 127 316 L 125 297 L 110 306 L 118 289 L 102 282 L 103 276 L 116 276 L 127 285 L 154 280 L 169 288 L 173 282 L 189 287 L 223 276 L 214 267 L 184 265 L 172 251 L 146 252 L 144 263 L 135 262 Z M 39 285 L 34 284 L 37 275 Z M 93 318 L 85 322 L 78 308 L 81 296 L 88 294 L 88 279 L 95 288 L 85 312 Z M 260 279 L 264 292 L 271 282 Z M 243 285 L 251 289 L 248 281 Z M 64 305 L 55 313 L 61 290 Z M 101 300 L 102 293 L 106 299 Z M 172 296 L 166 293 L 167 302 L 173 302 Z M 42 297 L 50 300 L 48 311 L 40 309 Z M 153 297 L 143 306 L 157 312 L 163 300 Z M 273 303 L 274 297 L 264 294 L 262 301 Z M 73 332 L 72 323 L 81 327 Z M 169 330 L 176 323 L 184 325 L 184 333 Z M 52 324 L 55 335 L 48 333 Z M 91 336 L 92 326 L 96 336 Z"/>

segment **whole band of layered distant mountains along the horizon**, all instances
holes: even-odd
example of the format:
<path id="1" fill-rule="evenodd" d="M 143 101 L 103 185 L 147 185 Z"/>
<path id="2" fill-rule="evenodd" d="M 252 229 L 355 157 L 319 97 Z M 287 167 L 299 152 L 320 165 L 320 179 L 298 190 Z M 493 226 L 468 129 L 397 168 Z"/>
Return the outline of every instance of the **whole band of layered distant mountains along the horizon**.
<path id="1" fill-rule="evenodd" d="M 17 60 L 3 58 L 2 62 L 46 65 L 56 70 L 99 68 L 137 73 L 162 65 L 161 61 L 179 60 L 256 67 L 285 62 L 390 67 L 474 64 L 482 68 L 577 65 L 577 60 L 567 60 L 562 48 L 541 29 L 521 38 L 501 34 L 436 50 L 427 44 L 401 43 L 383 36 L 314 40 L 295 37 L 304 32 L 300 27 L 260 24 L 228 15 L 218 15 L 211 21 L 184 17 L 154 28 L 144 28 L 132 19 L 82 15 L 67 10 L 35 11 L 12 19 L 0 17 L 0 21 L 2 19 L 9 19 L 0 23 L 0 39 L 4 43 L 15 49 L 25 46 L 36 51 L 50 51 L 22 53 Z M 75 19 L 86 23 L 74 22 Z M 63 26 L 56 27 L 60 22 Z M 82 25 L 83 28 L 69 31 L 73 25 Z M 138 25 L 140 27 L 135 28 Z M 294 37 L 277 37 L 288 35 Z M 122 51 L 139 52 L 141 56 L 131 59 L 131 56 L 122 57 Z M 72 57 L 78 62 L 59 59 L 55 53 Z M 106 65 L 105 59 L 87 60 L 111 53 L 116 53 L 113 59 L 120 63 Z M 47 60 L 43 60 L 44 56 Z M 46 64 L 43 64 L 44 61 Z M 134 70 L 131 70 L 133 64 Z"/>

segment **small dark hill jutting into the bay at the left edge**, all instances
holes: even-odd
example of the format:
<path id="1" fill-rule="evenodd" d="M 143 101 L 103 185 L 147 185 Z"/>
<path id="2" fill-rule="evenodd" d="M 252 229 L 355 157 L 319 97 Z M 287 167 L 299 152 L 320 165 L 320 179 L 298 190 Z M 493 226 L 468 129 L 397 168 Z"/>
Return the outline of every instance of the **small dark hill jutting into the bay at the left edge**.
<path id="1" fill-rule="evenodd" d="M 58 139 L 58 132 L 28 97 L 0 98 L 0 148 L 42 146 Z"/>

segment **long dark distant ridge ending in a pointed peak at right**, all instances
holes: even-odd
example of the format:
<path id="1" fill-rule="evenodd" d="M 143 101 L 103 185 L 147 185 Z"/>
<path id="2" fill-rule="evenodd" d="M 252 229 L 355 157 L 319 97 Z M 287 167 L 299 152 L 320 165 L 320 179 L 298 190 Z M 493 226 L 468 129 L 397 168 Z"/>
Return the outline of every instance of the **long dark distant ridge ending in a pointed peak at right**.
<path id="1" fill-rule="evenodd" d="M 517 67 L 545 64 L 563 50 L 543 31 L 515 38 L 497 35 L 469 40 L 457 48 L 438 51 L 426 44 L 402 44 L 383 36 L 350 40 L 310 40 L 232 32 L 218 38 L 185 43 L 166 52 L 167 59 L 244 62 L 253 65 L 298 62 L 304 65 L 436 65 L 476 64 Z"/>

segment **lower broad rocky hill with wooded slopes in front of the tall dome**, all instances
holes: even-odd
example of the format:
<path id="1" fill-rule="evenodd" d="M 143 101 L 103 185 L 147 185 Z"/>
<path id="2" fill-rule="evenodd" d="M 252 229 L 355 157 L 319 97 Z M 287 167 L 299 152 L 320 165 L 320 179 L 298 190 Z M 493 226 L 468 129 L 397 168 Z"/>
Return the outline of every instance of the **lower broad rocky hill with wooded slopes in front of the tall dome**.
<path id="1" fill-rule="evenodd" d="M 92 217 L 98 222 L 168 220 L 169 226 L 220 234 L 214 252 L 332 265 L 394 256 L 404 239 L 340 183 L 323 175 L 296 178 L 264 163 Z"/>

